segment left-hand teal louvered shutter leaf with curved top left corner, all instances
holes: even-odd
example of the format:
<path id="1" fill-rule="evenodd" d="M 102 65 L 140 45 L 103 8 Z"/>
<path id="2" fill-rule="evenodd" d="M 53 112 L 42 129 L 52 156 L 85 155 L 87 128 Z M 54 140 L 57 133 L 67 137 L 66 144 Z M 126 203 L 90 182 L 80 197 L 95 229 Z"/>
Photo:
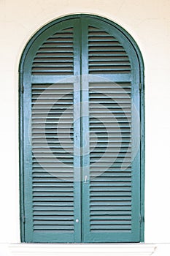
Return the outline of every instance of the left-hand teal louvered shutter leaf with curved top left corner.
<path id="1" fill-rule="evenodd" d="M 47 29 L 33 47 L 31 75 L 25 76 L 27 242 L 80 241 L 80 223 L 74 227 L 80 219 L 77 32 L 77 20 Z"/>

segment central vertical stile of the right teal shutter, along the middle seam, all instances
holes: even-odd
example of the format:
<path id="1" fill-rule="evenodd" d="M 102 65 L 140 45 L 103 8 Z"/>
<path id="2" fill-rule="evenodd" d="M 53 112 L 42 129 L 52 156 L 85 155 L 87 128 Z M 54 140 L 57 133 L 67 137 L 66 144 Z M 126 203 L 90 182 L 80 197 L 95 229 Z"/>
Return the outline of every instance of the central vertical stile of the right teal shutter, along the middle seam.
<path id="1" fill-rule="evenodd" d="M 88 233 L 88 226 L 89 226 L 89 197 L 90 197 L 90 190 L 88 185 L 89 179 L 89 104 L 88 104 L 88 25 L 86 20 L 82 18 L 81 20 L 81 46 L 82 46 L 82 79 L 81 79 L 81 91 L 82 91 L 82 110 L 81 110 L 81 118 L 82 118 L 82 151 L 81 151 L 81 162 L 82 162 L 82 242 L 89 242 L 86 241 L 86 233 Z"/>

